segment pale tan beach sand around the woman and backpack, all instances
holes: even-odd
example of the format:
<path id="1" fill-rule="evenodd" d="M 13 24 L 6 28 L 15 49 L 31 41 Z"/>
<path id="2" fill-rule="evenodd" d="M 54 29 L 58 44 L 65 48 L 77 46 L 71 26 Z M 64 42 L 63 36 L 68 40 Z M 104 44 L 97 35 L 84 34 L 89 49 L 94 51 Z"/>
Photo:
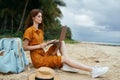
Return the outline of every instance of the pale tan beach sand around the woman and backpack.
<path id="1" fill-rule="evenodd" d="M 94 79 L 89 72 L 82 70 L 79 70 L 78 73 L 55 70 L 57 75 L 60 76 L 60 80 L 120 80 L 120 46 L 75 43 L 66 44 L 66 47 L 70 59 L 89 66 L 108 66 L 109 71 Z M 29 52 L 26 52 L 26 54 L 30 61 L 30 70 L 26 69 L 19 74 L 0 73 L 0 80 L 28 80 L 28 76 L 35 72 L 35 68 L 32 66 Z"/>

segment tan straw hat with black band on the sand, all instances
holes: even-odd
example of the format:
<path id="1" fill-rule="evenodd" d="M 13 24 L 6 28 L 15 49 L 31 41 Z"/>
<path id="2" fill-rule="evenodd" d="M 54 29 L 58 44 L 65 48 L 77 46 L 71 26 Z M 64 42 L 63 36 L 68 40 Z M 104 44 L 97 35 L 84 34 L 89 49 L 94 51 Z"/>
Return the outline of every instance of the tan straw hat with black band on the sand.
<path id="1" fill-rule="evenodd" d="M 29 80 L 60 80 L 56 72 L 48 67 L 40 67 L 36 73 L 29 76 Z"/>

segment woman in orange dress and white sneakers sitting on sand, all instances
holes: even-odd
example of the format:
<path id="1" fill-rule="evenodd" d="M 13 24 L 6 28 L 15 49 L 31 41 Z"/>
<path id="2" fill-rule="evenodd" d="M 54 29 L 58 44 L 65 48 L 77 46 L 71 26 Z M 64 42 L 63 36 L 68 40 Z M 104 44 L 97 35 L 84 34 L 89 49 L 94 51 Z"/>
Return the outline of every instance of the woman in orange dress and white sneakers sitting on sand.
<path id="1" fill-rule="evenodd" d="M 92 77 L 98 77 L 108 71 L 108 67 L 90 67 L 70 60 L 66 56 L 67 51 L 64 41 L 60 43 L 61 47 L 59 51 L 61 56 L 58 56 L 57 53 L 53 54 L 57 47 L 57 41 L 51 40 L 44 42 L 44 27 L 42 19 L 42 11 L 39 9 L 33 9 L 26 20 L 26 30 L 23 36 L 24 50 L 30 51 L 30 57 L 35 68 L 42 66 L 64 68 L 63 64 L 66 64 L 75 69 L 91 72 Z M 52 44 L 52 46 L 45 52 L 44 48 L 50 44 Z"/>

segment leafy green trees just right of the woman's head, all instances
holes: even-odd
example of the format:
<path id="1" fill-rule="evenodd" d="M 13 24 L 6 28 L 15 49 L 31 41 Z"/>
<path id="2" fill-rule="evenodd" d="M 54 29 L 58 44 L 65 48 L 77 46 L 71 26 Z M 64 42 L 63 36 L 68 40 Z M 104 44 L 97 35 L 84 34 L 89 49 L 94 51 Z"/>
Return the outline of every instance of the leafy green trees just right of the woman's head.
<path id="1" fill-rule="evenodd" d="M 61 30 L 59 18 L 62 17 L 59 6 L 66 6 L 65 3 L 62 0 L 39 0 L 39 2 L 43 5 L 40 8 L 44 12 L 45 38 L 58 37 Z"/>

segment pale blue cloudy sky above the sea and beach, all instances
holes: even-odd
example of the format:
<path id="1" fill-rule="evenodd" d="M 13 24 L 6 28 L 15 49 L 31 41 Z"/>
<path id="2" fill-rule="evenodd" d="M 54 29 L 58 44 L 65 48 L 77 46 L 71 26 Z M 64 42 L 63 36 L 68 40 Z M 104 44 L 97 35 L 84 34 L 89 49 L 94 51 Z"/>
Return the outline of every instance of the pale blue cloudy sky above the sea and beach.
<path id="1" fill-rule="evenodd" d="M 70 27 L 72 39 L 120 42 L 120 0 L 64 0 L 61 23 Z"/>

